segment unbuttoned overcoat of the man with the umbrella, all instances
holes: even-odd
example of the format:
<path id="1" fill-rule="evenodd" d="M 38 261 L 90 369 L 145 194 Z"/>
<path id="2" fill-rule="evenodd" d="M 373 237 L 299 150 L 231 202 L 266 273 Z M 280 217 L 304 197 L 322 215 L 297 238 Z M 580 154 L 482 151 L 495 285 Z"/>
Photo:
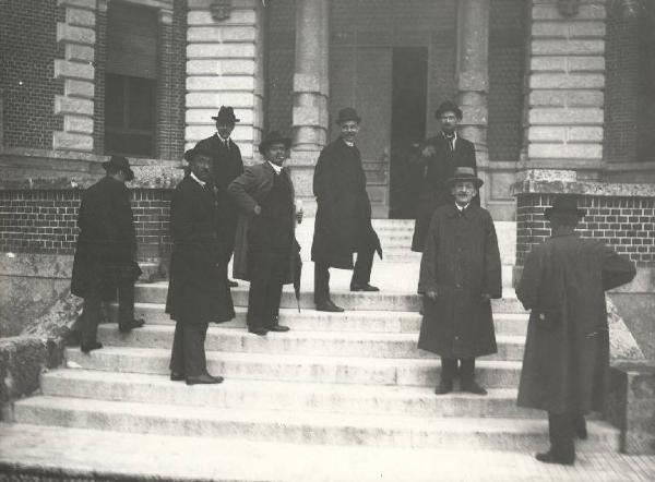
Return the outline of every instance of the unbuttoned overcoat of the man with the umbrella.
<path id="1" fill-rule="evenodd" d="M 237 236 L 235 242 L 235 260 L 233 264 L 233 276 L 237 279 L 243 279 L 249 281 L 249 266 L 248 266 L 248 249 L 250 245 L 249 240 L 249 228 L 250 219 L 254 214 L 254 207 L 264 202 L 271 189 L 273 188 L 275 170 L 269 161 L 264 161 L 257 166 L 250 166 L 246 171 L 235 179 L 228 186 L 229 195 L 239 209 L 239 221 L 237 225 Z M 291 185 L 291 197 L 294 194 L 294 184 L 289 170 L 285 167 L 282 169 L 279 176 L 284 176 L 289 184 Z M 291 233 L 293 243 L 295 249 L 289 253 L 289 268 L 287 269 L 287 277 L 284 279 L 284 284 L 288 285 L 294 282 L 294 274 L 296 273 L 296 266 L 300 263 L 300 245 L 296 241 L 296 208 L 289 212 L 291 217 L 290 226 L 293 226 L 294 233 Z M 259 244 L 259 243 L 258 243 Z"/>

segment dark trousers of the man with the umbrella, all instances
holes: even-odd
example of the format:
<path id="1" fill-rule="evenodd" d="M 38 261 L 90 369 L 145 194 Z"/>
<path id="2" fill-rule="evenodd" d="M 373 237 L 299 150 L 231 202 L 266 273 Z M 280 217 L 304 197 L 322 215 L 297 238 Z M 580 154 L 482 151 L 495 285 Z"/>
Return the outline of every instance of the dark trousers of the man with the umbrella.
<path id="1" fill-rule="evenodd" d="M 250 291 L 247 323 L 250 328 L 271 328 L 277 324 L 282 288 L 289 265 L 284 253 L 250 253 Z"/>

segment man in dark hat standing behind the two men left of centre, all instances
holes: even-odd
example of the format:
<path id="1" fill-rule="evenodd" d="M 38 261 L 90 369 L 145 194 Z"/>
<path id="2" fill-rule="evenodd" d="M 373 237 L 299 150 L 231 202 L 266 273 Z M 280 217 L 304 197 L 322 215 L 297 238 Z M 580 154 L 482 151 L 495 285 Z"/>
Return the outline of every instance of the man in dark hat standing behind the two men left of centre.
<path id="1" fill-rule="evenodd" d="M 239 146 L 230 138 L 235 124 L 240 121 L 235 116 L 231 107 L 221 106 L 218 115 L 213 116 L 216 121 L 216 132 L 207 138 L 203 138 L 196 147 L 212 153 L 211 182 L 216 190 L 218 212 L 216 226 L 227 266 L 235 251 L 235 234 L 237 231 L 237 207 L 227 194 L 227 186 L 237 177 L 243 173 L 243 160 Z M 227 277 L 227 272 L 226 272 Z M 237 286 L 236 281 L 228 280 L 229 286 Z"/>

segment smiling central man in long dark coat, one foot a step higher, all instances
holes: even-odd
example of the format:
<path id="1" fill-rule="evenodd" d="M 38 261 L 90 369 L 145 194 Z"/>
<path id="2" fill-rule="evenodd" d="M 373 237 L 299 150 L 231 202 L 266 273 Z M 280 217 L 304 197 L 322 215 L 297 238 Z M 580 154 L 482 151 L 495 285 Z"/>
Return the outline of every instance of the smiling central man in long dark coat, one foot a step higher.
<path id="1" fill-rule="evenodd" d="M 373 254 L 382 253 L 371 225 L 371 203 L 366 191 L 361 156 L 355 145 L 361 118 L 353 108 L 340 110 L 340 138 L 326 145 L 317 162 L 313 193 L 317 196 L 311 260 L 314 262 L 317 310 L 342 312 L 330 299 L 329 268 L 353 269 L 350 291 L 379 291 L 370 285 Z M 357 262 L 353 266 L 353 254 Z"/>

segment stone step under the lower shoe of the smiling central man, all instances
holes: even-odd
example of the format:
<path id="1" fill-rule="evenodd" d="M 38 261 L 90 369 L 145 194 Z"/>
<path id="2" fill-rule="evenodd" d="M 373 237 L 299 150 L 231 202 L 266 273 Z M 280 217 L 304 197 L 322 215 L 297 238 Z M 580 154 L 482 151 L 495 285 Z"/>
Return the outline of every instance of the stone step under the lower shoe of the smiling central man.
<path id="1" fill-rule="evenodd" d="M 143 317 L 148 325 L 175 324 L 167 315 L 165 304 L 136 303 L 134 313 Z M 246 328 L 245 306 L 235 309 L 237 316 L 231 322 L 222 323 L 223 328 Z M 118 308 L 111 305 L 116 317 Z M 527 332 L 527 313 L 495 313 L 493 322 L 497 335 L 514 335 L 525 337 Z M 315 310 L 287 308 L 279 310 L 279 323 L 298 332 L 366 332 L 366 333 L 417 333 L 420 328 L 421 315 L 416 312 L 401 311 L 347 311 L 344 313 L 325 313 Z"/>

